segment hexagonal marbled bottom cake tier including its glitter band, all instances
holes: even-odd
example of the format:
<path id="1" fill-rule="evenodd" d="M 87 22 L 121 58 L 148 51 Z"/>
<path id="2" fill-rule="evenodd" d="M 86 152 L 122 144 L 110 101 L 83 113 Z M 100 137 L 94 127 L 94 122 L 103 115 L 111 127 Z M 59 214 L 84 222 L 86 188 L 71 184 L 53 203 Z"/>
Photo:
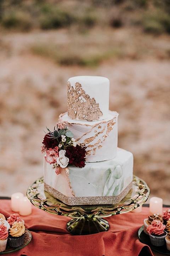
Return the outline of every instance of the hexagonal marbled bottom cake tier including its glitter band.
<path id="1" fill-rule="evenodd" d="M 68 205 L 116 204 L 132 188 L 133 155 L 118 148 L 114 159 L 68 166 L 56 174 L 44 161 L 44 189 Z"/>

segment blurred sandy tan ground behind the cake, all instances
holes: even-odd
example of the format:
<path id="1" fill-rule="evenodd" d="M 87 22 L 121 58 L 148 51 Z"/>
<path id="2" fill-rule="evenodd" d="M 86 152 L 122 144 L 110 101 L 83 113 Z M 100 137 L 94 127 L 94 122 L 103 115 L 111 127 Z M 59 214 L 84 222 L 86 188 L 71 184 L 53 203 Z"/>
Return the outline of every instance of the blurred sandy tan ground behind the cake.
<path id="1" fill-rule="evenodd" d="M 126 41 L 129 32 L 120 30 L 119 37 Z M 159 50 L 153 57 L 152 48 L 145 58 L 135 58 L 130 41 L 125 58 L 105 60 L 97 68 L 60 66 L 28 50 L 37 38 L 68 39 L 66 30 L 1 33 L 0 196 L 26 194 L 43 176 L 40 146 L 45 127 L 53 130 L 67 111 L 67 80 L 99 75 L 110 80 L 109 108 L 119 112 L 118 146 L 133 153 L 134 174 L 147 182 L 151 196 L 170 204 L 169 59 Z M 170 49 L 169 39 L 149 40 Z"/>

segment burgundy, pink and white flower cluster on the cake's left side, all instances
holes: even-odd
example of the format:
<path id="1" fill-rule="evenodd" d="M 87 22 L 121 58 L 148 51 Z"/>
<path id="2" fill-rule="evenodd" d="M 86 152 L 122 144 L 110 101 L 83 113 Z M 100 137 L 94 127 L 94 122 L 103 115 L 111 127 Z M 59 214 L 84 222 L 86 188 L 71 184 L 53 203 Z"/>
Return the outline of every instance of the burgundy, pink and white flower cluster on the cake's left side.
<path id="1" fill-rule="evenodd" d="M 48 133 L 41 146 L 41 152 L 46 153 L 46 162 L 53 165 L 56 174 L 60 174 L 60 168 L 66 168 L 68 164 L 80 168 L 85 166 L 86 147 L 75 142 L 74 134 L 66 124 L 66 121 L 59 119 L 53 132 L 46 127 Z"/>

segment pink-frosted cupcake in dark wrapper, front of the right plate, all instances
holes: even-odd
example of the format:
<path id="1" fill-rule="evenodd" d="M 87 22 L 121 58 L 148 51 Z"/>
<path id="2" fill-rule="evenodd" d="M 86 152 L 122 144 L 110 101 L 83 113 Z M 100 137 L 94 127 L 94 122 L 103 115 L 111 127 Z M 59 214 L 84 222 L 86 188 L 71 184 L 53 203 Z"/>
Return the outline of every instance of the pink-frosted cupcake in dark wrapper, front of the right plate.
<path id="1" fill-rule="evenodd" d="M 160 220 L 153 220 L 151 225 L 147 227 L 151 244 L 154 246 L 162 246 L 165 244 L 166 226 Z"/>

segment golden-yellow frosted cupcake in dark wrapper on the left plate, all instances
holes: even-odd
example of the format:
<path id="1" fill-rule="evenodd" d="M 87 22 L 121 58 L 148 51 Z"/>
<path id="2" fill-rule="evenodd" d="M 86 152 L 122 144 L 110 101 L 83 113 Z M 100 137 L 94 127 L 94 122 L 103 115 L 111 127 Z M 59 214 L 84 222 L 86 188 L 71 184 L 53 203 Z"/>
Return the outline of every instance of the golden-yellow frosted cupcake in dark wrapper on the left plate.
<path id="1" fill-rule="evenodd" d="M 23 244 L 25 235 L 25 226 L 23 222 L 14 222 L 9 230 L 8 244 L 11 247 L 18 247 Z"/>

